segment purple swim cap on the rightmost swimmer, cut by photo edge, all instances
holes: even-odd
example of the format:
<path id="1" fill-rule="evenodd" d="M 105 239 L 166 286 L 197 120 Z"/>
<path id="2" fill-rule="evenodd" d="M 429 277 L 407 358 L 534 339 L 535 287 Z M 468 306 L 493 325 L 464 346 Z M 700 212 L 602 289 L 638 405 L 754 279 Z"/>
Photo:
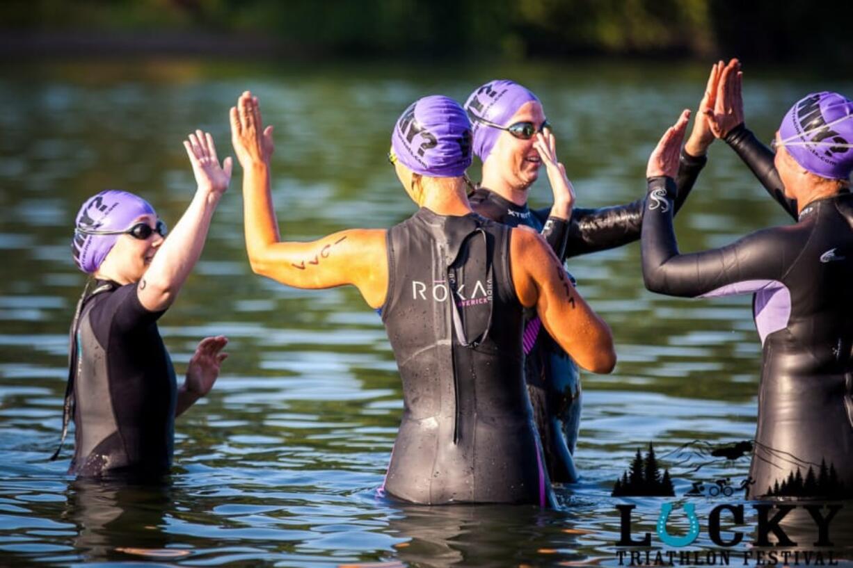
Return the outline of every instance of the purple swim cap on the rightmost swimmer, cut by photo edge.
<path id="1" fill-rule="evenodd" d="M 806 170 L 847 179 L 853 171 L 853 101 L 823 91 L 797 101 L 779 127 L 781 145 Z"/>

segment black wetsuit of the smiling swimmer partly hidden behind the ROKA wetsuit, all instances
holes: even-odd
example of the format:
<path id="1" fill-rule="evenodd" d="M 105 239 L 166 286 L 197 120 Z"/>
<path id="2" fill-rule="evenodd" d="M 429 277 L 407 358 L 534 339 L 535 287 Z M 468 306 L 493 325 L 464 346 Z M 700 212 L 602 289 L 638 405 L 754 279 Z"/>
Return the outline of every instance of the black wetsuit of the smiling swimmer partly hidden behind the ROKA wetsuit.
<path id="1" fill-rule="evenodd" d="M 682 153 L 676 210 L 687 199 L 706 161 L 704 156 L 694 158 Z M 574 207 L 568 222 L 549 217 L 550 207 L 518 206 L 486 188 L 478 188 L 470 195 L 470 200 L 474 211 L 484 217 L 510 227 L 525 225 L 536 229 L 562 261 L 626 245 L 640 238 L 642 199 L 621 206 Z M 528 315 L 524 338 L 525 378 L 548 474 L 554 482 L 573 483 L 577 480 L 572 455 L 580 428 L 580 375 L 572 357 L 566 355 L 543 329 L 536 314 Z"/>

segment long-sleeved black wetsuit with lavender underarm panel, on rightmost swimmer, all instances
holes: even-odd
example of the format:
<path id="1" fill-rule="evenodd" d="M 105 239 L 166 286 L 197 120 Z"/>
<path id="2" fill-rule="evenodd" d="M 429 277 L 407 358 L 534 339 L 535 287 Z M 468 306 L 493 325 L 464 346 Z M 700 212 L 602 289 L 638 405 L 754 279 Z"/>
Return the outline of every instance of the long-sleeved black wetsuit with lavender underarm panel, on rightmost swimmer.
<path id="1" fill-rule="evenodd" d="M 679 254 L 671 179 L 649 181 L 642 264 L 653 292 L 754 293 L 763 345 L 751 496 L 821 464 L 853 488 L 853 194 L 815 200 L 798 223 Z"/>

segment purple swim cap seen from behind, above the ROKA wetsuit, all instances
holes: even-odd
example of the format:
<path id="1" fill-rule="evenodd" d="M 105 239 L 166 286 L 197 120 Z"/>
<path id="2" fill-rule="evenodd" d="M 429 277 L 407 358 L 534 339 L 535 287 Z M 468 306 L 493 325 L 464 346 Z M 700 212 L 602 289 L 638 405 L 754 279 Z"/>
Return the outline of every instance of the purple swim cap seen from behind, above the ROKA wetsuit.
<path id="1" fill-rule="evenodd" d="M 391 148 L 421 176 L 459 177 L 471 165 L 471 123 L 453 99 L 425 96 L 397 119 Z"/>

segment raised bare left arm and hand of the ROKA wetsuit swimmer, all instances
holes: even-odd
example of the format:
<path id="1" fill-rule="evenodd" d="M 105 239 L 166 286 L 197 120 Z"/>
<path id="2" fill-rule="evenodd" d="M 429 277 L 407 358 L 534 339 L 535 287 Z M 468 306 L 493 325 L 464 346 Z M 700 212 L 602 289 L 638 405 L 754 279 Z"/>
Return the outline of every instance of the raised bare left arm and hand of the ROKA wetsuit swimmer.
<path id="1" fill-rule="evenodd" d="M 272 127 L 263 129 L 258 100 L 244 93 L 231 108 L 231 134 L 243 166 L 246 249 L 252 270 L 287 286 L 328 288 L 352 284 L 380 307 L 388 286 L 386 231 L 350 229 L 317 241 L 281 241 L 270 194 Z"/>

